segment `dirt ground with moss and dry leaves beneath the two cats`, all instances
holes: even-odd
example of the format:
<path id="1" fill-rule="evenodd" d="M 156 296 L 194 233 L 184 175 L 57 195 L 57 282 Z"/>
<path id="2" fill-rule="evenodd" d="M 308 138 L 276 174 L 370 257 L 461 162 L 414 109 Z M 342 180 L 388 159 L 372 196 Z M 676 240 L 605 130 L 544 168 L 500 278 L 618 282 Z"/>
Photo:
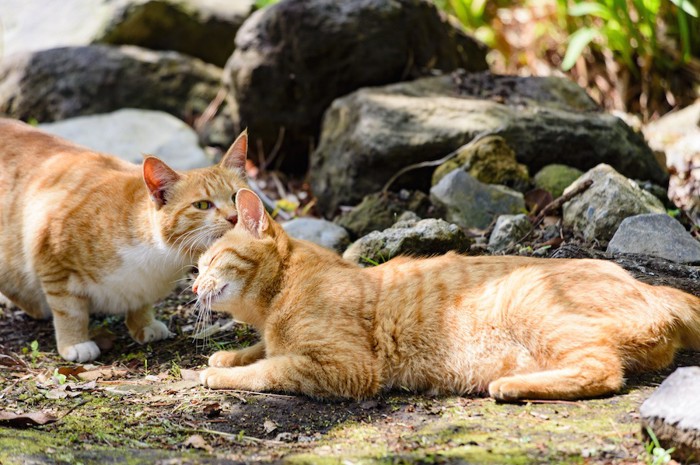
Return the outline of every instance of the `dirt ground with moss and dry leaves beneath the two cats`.
<path id="1" fill-rule="evenodd" d="M 651 463 L 638 408 L 673 368 L 580 402 L 392 392 L 333 403 L 212 391 L 195 370 L 256 336 L 223 319 L 205 326 L 227 329 L 194 340 L 192 298 L 181 290 L 158 305 L 177 336 L 152 345 L 134 343 L 121 318 L 93 319 L 103 354 L 84 367 L 58 357 L 50 322 L 2 310 L 0 415 L 18 418 L 0 421 L 0 464 Z M 700 354 L 678 364 L 700 365 Z M 32 413 L 46 423 L 27 420 Z"/>

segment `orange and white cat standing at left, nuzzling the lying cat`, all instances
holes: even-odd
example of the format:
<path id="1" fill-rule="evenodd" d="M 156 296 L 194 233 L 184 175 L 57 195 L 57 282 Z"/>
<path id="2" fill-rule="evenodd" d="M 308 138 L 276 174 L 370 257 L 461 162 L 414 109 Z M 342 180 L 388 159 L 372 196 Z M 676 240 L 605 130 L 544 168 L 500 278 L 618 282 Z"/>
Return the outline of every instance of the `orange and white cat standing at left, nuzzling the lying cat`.
<path id="1" fill-rule="evenodd" d="M 237 221 L 247 136 L 221 163 L 179 173 L 95 153 L 0 119 L 0 292 L 29 315 L 53 314 L 58 352 L 85 362 L 100 350 L 91 312 L 126 315 L 132 337 L 171 335 L 151 305 Z"/>

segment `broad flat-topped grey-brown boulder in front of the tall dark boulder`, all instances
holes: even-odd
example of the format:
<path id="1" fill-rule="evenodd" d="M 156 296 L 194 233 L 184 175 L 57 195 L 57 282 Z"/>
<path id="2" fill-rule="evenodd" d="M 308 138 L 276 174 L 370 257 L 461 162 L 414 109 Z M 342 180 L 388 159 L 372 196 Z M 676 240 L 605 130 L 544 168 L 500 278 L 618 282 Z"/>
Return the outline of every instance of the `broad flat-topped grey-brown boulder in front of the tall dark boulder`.
<path id="1" fill-rule="evenodd" d="M 465 90 L 454 79 L 361 89 L 333 102 L 311 156 L 311 186 L 324 215 L 380 190 L 401 168 L 442 158 L 483 132 L 503 137 L 531 173 L 551 163 L 587 170 L 605 162 L 626 176 L 665 182 L 643 138 L 597 111 L 568 79 L 480 73 L 471 79 L 482 87 Z M 411 171 L 392 188 L 427 189 L 428 176 Z"/>

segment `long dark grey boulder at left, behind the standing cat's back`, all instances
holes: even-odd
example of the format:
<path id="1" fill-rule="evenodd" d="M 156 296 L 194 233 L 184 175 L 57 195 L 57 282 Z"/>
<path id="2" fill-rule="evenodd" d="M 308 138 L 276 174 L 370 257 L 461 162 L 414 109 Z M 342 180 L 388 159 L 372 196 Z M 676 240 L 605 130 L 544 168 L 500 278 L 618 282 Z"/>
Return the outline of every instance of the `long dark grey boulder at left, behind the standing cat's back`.
<path id="1" fill-rule="evenodd" d="M 0 63 L 0 113 L 50 122 L 120 108 L 191 120 L 216 95 L 221 70 L 175 52 L 92 45 L 15 54 Z"/>

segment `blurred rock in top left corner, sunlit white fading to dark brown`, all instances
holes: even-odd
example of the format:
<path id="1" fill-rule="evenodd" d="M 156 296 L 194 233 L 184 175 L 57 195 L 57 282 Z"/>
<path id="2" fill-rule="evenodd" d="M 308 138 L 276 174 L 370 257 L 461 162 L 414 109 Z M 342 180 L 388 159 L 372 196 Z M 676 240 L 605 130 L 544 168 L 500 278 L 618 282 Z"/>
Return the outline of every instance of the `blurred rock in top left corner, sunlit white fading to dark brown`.
<path id="1" fill-rule="evenodd" d="M 174 50 L 223 66 L 254 0 L 3 0 L 4 54 L 96 43 Z"/>

